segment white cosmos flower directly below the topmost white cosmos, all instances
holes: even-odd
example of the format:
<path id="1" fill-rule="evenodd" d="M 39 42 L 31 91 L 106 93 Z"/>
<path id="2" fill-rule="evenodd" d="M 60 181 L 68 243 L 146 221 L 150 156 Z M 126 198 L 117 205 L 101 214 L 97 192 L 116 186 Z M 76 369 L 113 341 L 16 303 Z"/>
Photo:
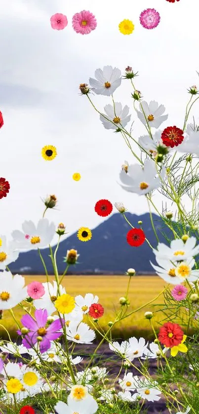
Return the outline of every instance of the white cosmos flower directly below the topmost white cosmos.
<path id="1" fill-rule="evenodd" d="M 104 107 L 104 111 L 105 117 L 103 115 L 100 115 L 100 121 L 102 121 L 106 129 L 118 129 L 126 126 L 130 121 L 131 115 L 128 115 L 129 108 L 127 105 L 125 105 L 125 107 L 122 109 L 120 102 L 115 102 L 115 107 L 114 105 L 110 104 L 106 105 Z M 107 118 L 110 121 L 114 122 L 114 124 L 107 120 Z"/>

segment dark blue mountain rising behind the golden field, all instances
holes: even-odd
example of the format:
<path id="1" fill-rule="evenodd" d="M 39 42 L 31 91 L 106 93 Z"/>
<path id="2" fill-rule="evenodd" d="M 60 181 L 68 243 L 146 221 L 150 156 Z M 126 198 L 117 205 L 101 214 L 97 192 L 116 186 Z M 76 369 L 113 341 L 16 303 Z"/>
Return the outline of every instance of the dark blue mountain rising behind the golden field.
<path id="1" fill-rule="evenodd" d="M 132 226 L 140 227 L 137 223 L 143 222 L 142 228 L 146 238 L 151 245 L 157 247 L 157 239 L 151 226 L 150 215 L 135 215 L 126 212 L 127 220 Z M 160 229 L 163 229 L 166 235 L 173 238 L 171 232 L 157 216 L 153 214 L 153 220 L 156 227 L 159 241 L 165 243 Z M 155 262 L 155 256 L 148 243 L 145 241 L 140 247 L 131 247 L 126 241 L 126 233 L 130 226 L 120 213 L 113 214 L 109 219 L 103 221 L 99 226 L 92 230 L 92 239 L 87 242 L 81 242 L 77 238 L 77 233 L 72 234 L 60 242 L 57 252 L 57 265 L 59 273 L 64 272 L 66 263 L 63 262 L 67 250 L 76 249 L 80 254 L 78 264 L 70 266 L 68 273 L 121 273 L 123 274 L 129 267 L 133 267 L 138 273 L 155 273 L 150 260 Z M 52 248 L 53 252 L 55 250 Z M 41 250 L 42 257 L 46 263 L 49 274 L 53 273 L 52 263 L 49 258 L 49 249 Z M 27 253 L 20 253 L 15 263 L 9 265 L 13 273 L 24 274 L 44 274 L 38 251 L 32 250 Z"/>

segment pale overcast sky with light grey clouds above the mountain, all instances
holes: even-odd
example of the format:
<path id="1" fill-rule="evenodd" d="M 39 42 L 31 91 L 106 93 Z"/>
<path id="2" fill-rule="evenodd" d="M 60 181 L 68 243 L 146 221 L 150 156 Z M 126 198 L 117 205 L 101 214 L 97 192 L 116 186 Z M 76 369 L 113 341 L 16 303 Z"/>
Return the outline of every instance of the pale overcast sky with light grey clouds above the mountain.
<path id="1" fill-rule="evenodd" d="M 104 129 L 87 98 L 80 96 L 79 84 L 105 65 L 122 74 L 132 66 L 139 72 L 135 85 L 143 99 L 158 101 L 169 114 L 161 127 L 182 128 L 190 97 L 186 89 L 199 85 L 197 6 L 198 0 L 0 0 L 0 177 L 10 183 L 9 194 L 0 200 L 1 234 L 20 229 L 24 220 L 37 222 L 43 212 L 40 197 L 49 193 L 57 196 L 58 210 L 48 210 L 46 217 L 56 224 L 64 222 L 69 234 L 103 221 L 94 211 L 101 198 L 121 201 L 132 213 L 148 211 L 145 197 L 117 184 L 124 160 L 136 161 L 121 135 Z M 161 17 L 154 30 L 139 23 L 141 11 L 148 7 Z M 77 34 L 71 23 L 83 9 L 97 19 L 96 30 L 86 36 Z M 62 31 L 50 26 L 57 12 L 69 21 Z M 133 21 L 132 35 L 119 32 L 123 19 Z M 145 135 L 145 128 L 130 94 L 130 81 L 123 80 L 114 95 L 130 107 L 137 139 Z M 109 97 L 91 97 L 102 112 L 111 103 Z M 193 113 L 199 121 L 197 104 Z M 48 144 L 58 152 L 50 162 L 40 154 Z M 73 181 L 74 172 L 80 172 L 79 182 Z M 154 199 L 160 206 L 160 195 Z"/>

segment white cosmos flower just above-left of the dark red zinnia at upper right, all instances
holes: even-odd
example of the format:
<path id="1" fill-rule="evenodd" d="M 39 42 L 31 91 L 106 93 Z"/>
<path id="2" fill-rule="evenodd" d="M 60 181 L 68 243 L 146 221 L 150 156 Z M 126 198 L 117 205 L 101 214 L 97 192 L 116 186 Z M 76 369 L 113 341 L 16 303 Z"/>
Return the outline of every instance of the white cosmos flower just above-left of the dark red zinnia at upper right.
<path id="1" fill-rule="evenodd" d="M 147 102 L 143 101 L 142 102 L 142 107 L 143 107 L 144 113 L 147 117 L 147 120 L 149 122 L 149 126 L 151 128 L 159 128 L 159 125 L 161 125 L 161 123 L 164 122 L 168 118 L 168 114 L 161 116 L 162 113 L 164 113 L 165 108 L 164 108 L 163 105 L 159 106 L 158 102 L 156 102 L 156 101 L 151 101 L 149 103 L 149 105 L 147 104 Z M 140 111 L 141 112 L 136 111 L 137 116 L 144 125 L 147 125 L 147 121 L 146 121 L 145 116 L 142 112 L 141 105 L 140 105 Z"/>

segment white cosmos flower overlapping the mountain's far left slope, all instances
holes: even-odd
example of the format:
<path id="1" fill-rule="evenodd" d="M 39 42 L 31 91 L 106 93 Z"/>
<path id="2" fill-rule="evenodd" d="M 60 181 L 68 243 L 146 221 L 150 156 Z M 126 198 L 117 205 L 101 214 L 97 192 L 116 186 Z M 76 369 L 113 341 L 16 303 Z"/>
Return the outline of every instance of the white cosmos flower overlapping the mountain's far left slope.
<path id="1" fill-rule="evenodd" d="M 55 235 L 55 225 L 49 223 L 48 219 L 40 219 L 37 226 L 32 221 L 25 221 L 22 230 L 12 231 L 12 243 L 16 249 L 25 252 L 38 248 L 45 249 Z"/>

